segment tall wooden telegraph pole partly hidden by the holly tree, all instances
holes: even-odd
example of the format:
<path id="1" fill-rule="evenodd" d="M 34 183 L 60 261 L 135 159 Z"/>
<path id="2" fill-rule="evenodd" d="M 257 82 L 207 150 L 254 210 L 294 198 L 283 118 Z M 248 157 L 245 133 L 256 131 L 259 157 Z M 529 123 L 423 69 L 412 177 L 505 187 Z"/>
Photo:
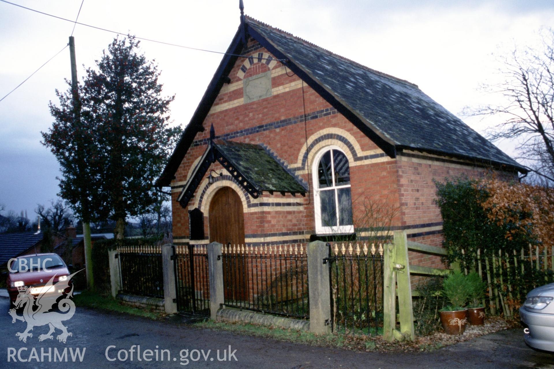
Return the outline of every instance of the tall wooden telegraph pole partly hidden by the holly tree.
<path id="1" fill-rule="evenodd" d="M 75 61 L 75 38 L 69 37 L 69 58 L 71 59 L 71 92 L 73 92 L 73 109 L 75 124 L 81 124 L 81 102 L 79 100 L 79 89 L 77 85 L 77 62 Z M 77 148 L 79 150 L 79 148 Z M 81 148 L 82 149 L 82 148 Z M 83 155 L 83 152 L 78 155 Z M 82 180 L 82 177 L 81 177 Z M 85 179 L 86 180 L 86 179 Z M 81 182 L 84 184 L 84 180 Z M 84 184 L 86 185 L 86 184 Z M 81 217 L 83 222 L 83 243 L 85 248 L 85 268 L 86 268 L 86 285 L 89 290 L 94 289 L 94 276 L 93 276 L 93 245 L 90 238 L 90 220 L 85 219 L 86 213 L 89 212 L 88 206 L 86 206 L 88 200 L 86 198 L 86 190 L 81 187 L 81 191 L 84 191 L 83 201 L 81 201 L 81 207 L 83 208 Z M 84 202 L 84 203 L 83 203 Z"/>

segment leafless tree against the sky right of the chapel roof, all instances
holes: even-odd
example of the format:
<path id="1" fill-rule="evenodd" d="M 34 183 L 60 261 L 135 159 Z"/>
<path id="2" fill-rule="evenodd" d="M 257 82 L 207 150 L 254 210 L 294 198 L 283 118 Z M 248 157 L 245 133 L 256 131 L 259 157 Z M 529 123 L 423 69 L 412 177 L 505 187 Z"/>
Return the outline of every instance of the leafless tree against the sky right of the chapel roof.
<path id="1" fill-rule="evenodd" d="M 481 89 L 501 96 L 501 105 L 464 109 L 465 115 L 501 119 L 489 132 L 493 141 L 515 139 L 518 159 L 531 171 L 554 182 L 554 31 L 541 29 L 540 49 L 515 48 L 496 55 L 502 64 L 502 82 L 483 84 Z"/>

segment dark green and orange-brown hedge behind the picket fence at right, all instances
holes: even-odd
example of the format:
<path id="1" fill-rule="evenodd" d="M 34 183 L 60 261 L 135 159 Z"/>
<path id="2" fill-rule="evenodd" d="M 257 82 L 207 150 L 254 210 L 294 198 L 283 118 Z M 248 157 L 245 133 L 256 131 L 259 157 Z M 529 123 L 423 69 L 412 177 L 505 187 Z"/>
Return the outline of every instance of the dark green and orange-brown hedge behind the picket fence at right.
<path id="1" fill-rule="evenodd" d="M 551 253 L 554 245 L 553 189 L 500 180 L 494 175 L 434 183 L 435 202 L 443 218 L 443 246 L 448 251 L 445 259 L 459 261 L 462 270 L 480 267 L 490 278 L 496 298 L 485 297 L 486 306 L 501 308 L 510 316 L 525 300 L 525 292 L 554 280 L 550 260 L 545 263 L 542 259 L 545 248 Z M 539 258 L 534 257 L 535 247 Z M 475 298 L 471 303 L 475 304 Z"/>

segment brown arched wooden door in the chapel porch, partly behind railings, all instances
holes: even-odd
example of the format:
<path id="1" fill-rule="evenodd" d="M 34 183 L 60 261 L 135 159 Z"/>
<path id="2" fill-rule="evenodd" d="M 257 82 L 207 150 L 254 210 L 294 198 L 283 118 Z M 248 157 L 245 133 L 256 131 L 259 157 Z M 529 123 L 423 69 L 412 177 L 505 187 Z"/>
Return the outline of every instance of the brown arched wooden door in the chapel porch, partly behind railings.
<path id="1" fill-rule="evenodd" d="M 208 222 L 209 242 L 215 241 L 223 245 L 244 243 L 243 204 L 232 188 L 223 187 L 213 195 L 209 204 Z M 238 254 L 224 259 L 225 299 L 247 299 L 246 265 L 246 259 Z"/>

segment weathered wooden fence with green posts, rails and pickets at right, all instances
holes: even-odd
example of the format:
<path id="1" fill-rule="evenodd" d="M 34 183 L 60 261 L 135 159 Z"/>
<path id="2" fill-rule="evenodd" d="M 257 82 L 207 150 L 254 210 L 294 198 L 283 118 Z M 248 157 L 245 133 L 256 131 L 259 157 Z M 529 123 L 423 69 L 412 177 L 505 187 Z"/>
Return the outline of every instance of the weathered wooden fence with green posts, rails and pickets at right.
<path id="1" fill-rule="evenodd" d="M 413 340 L 414 317 L 411 275 L 446 276 L 452 270 L 465 274 L 479 273 L 487 285 L 482 303 L 491 315 L 499 313 L 513 316 L 533 288 L 554 282 L 554 246 L 541 249 L 529 246 L 526 250 L 477 250 L 474 255 L 465 254 L 460 263 L 450 264 L 449 269 L 418 266 L 409 262 L 408 251 L 447 256 L 441 247 L 408 241 L 406 232 L 394 232 L 393 243 L 385 245 L 383 266 L 383 337 L 386 340 Z M 549 253 L 550 251 L 550 253 Z M 398 311 L 396 315 L 396 303 Z M 397 329 L 399 322 L 399 330 Z"/>

